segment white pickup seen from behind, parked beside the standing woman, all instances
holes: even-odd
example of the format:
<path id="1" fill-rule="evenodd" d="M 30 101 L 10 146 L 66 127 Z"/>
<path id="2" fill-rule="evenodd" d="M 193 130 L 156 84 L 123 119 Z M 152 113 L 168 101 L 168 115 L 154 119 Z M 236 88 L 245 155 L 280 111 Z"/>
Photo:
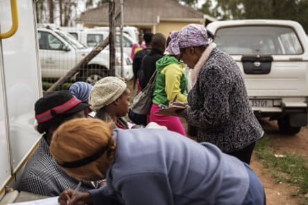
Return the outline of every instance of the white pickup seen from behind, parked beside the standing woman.
<path id="1" fill-rule="evenodd" d="M 282 133 L 307 126 L 308 40 L 296 21 L 215 21 L 207 29 L 217 48 L 242 70 L 257 117 L 277 120 Z"/>

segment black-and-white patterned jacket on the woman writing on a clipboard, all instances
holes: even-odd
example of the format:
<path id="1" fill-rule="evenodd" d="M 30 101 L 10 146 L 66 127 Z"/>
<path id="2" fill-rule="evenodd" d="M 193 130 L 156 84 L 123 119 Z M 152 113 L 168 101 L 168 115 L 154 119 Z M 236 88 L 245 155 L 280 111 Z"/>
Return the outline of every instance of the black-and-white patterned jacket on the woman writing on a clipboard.
<path id="1" fill-rule="evenodd" d="M 232 57 L 214 48 L 188 93 L 188 124 L 197 141 L 225 153 L 240 150 L 264 134 L 248 101 L 244 77 Z"/>

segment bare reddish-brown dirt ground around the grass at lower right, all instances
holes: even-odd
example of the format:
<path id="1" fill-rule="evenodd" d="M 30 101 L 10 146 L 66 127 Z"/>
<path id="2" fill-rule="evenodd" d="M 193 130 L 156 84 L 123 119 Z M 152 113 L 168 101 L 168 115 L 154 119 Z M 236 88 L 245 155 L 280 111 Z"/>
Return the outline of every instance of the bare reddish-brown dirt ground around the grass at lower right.
<path id="1" fill-rule="evenodd" d="M 308 128 L 302 128 L 297 135 L 280 135 L 275 121 L 261 120 L 265 133 L 271 136 L 274 153 L 298 153 L 308 160 Z M 265 188 L 267 205 L 297 205 L 298 199 L 291 194 L 298 188 L 287 183 L 275 183 L 266 168 L 253 157 L 251 167 L 260 177 Z"/>

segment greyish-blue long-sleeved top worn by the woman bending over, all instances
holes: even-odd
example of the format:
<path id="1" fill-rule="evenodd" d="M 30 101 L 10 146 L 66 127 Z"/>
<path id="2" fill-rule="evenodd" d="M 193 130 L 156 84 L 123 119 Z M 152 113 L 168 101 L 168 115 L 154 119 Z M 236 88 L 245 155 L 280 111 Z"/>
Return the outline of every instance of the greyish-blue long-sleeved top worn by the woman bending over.
<path id="1" fill-rule="evenodd" d="M 243 162 L 212 144 L 150 128 L 116 129 L 114 137 L 108 185 L 89 191 L 95 205 L 239 205 L 246 197 Z"/>

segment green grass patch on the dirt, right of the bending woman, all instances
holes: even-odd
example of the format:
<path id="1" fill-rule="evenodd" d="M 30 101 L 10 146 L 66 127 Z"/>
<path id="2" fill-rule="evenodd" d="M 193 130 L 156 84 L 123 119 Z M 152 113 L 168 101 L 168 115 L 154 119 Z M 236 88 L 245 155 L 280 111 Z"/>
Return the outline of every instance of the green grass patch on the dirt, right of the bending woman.
<path id="1" fill-rule="evenodd" d="M 308 162 L 298 153 L 274 153 L 269 135 L 257 141 L 255 156 L 262 161 L 275 182 L 287 182 L 298 186 L 298 193 L 290 193 L 300 199 L 300 205 L 308 204 Z M 275 156 L 280 154 L 280 157 Z M 282 156 L 281 156 L 282 154 Z"/>

